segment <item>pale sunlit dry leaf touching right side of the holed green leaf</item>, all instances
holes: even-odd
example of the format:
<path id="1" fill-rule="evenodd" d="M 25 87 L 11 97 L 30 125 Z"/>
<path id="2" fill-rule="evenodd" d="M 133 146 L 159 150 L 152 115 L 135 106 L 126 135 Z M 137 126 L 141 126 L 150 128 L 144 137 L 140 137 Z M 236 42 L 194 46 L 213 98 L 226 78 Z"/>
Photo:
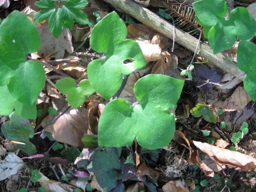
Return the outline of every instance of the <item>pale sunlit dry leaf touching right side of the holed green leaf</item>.
<path id="1" fill-rule="evenodd" d="M 146 63 L 149 61 L 158 61 L 161 59 L 161 48 L 158 44 L 151 44 L 149 40 L 141 38 L 135 39 L 135 41 L 139 44 L 145 57 Z"/>

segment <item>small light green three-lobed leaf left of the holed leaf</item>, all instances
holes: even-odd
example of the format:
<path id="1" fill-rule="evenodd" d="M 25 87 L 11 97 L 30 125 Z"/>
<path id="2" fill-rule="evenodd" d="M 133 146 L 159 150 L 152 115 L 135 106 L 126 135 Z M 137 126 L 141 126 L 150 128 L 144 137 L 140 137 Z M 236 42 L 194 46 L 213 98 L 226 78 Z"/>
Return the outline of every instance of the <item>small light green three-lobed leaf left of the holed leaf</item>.
<path id="1" fill-rule="evenodd" d="M 88 79 L 80 81 L 79 87 L 76 87 L 76 81 L 74 79 L 64 78 L 56 83 L 56 87 L 60 92 L 67 94 L 67 101 L 73 108 L 82 105 L 85 97 L 95 92 Z"/>

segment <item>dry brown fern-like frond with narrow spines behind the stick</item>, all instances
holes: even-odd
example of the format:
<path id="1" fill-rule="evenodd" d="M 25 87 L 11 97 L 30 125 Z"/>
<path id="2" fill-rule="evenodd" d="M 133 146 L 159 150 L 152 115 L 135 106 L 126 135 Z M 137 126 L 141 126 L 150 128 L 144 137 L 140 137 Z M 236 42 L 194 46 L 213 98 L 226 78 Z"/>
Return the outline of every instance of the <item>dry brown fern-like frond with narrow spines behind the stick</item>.
<path id="1" fill-rule="evenodd" d="M 172 5 L 166 9 L 166 13 L 173 18 L 176 28 L 186 31 L 195 37 L 199 36 L 200 25 L 195 19 L 195 11 L 192 7 Z M 172 20 L 169 20 L 169 22 L 173 23 Z"/>

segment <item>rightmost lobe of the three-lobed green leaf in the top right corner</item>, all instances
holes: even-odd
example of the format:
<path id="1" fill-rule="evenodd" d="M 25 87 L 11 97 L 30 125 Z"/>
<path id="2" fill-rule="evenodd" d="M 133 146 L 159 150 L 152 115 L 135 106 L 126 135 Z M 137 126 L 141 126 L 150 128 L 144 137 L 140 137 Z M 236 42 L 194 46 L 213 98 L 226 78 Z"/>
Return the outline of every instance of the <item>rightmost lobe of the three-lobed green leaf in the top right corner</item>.
<path id="1" fill-rule="evenodd" d="M 247 40 L 256 35 L 256 21 L 245 7 L 236 7 L 230 12 L 229 20 L 236 26 L 236 35 L 240 40 Z"/>

